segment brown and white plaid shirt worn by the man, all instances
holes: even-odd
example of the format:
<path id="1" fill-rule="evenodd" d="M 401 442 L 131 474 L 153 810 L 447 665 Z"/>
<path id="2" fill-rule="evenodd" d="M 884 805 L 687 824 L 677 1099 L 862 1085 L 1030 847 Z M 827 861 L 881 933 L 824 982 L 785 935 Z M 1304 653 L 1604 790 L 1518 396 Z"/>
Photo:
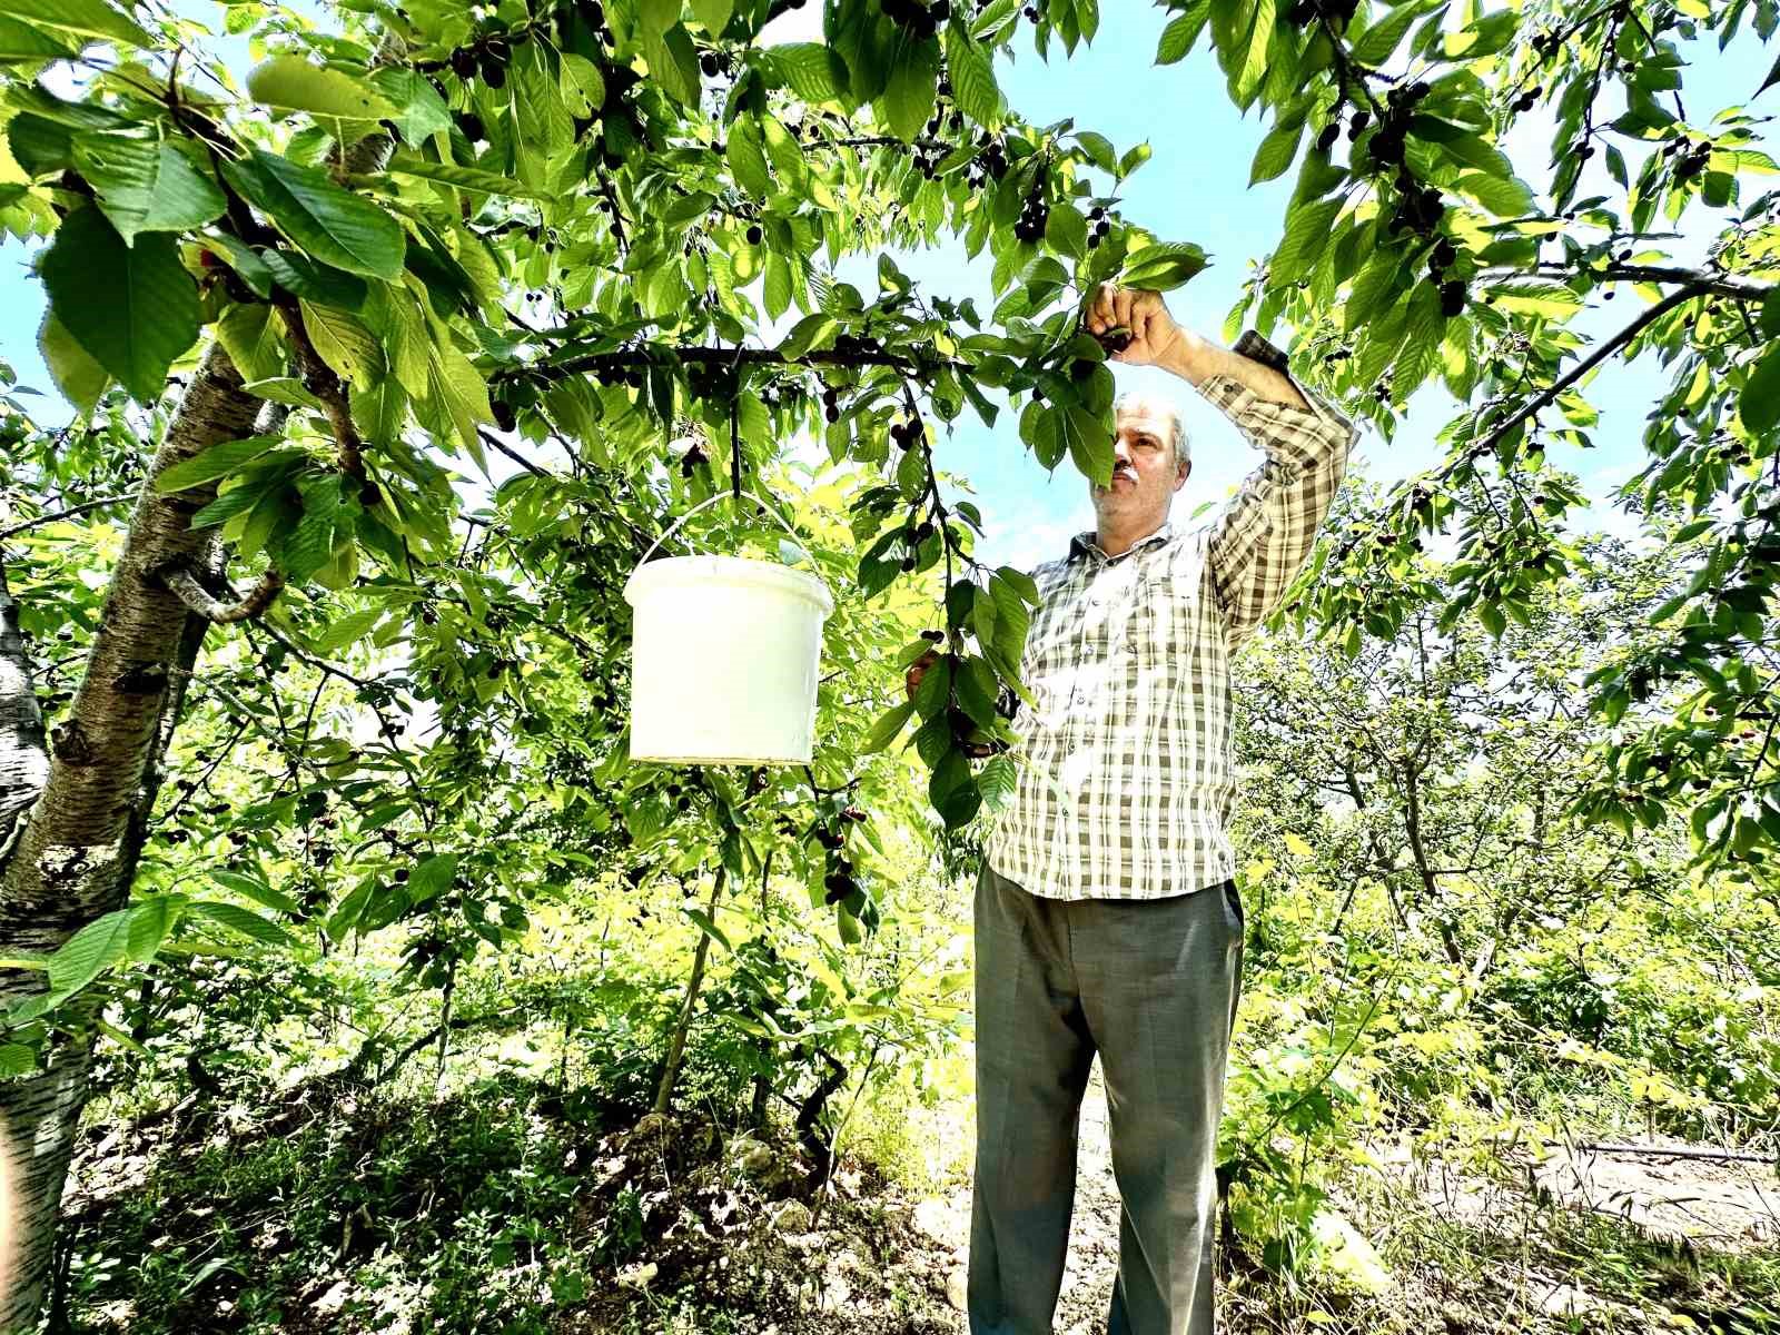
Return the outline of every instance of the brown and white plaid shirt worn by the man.
<path id="1" fill-rule="evenodd" d="M 1289 374 L 1253 329 L 1235 351 Z M 1031 894 L 1162 899 L 1235 874 L 1230 653 L 1303 566 L 1358 436 L 1298 388 L 1312 411 L 1232 376 L 1198 384 L 1267 454 L 1209 525 L 1164 523 L 1116 557 L 1082 532 L 1032 571 L 1036 705 L 1013 719 L 1018 780 L 984 842 Z"/>

